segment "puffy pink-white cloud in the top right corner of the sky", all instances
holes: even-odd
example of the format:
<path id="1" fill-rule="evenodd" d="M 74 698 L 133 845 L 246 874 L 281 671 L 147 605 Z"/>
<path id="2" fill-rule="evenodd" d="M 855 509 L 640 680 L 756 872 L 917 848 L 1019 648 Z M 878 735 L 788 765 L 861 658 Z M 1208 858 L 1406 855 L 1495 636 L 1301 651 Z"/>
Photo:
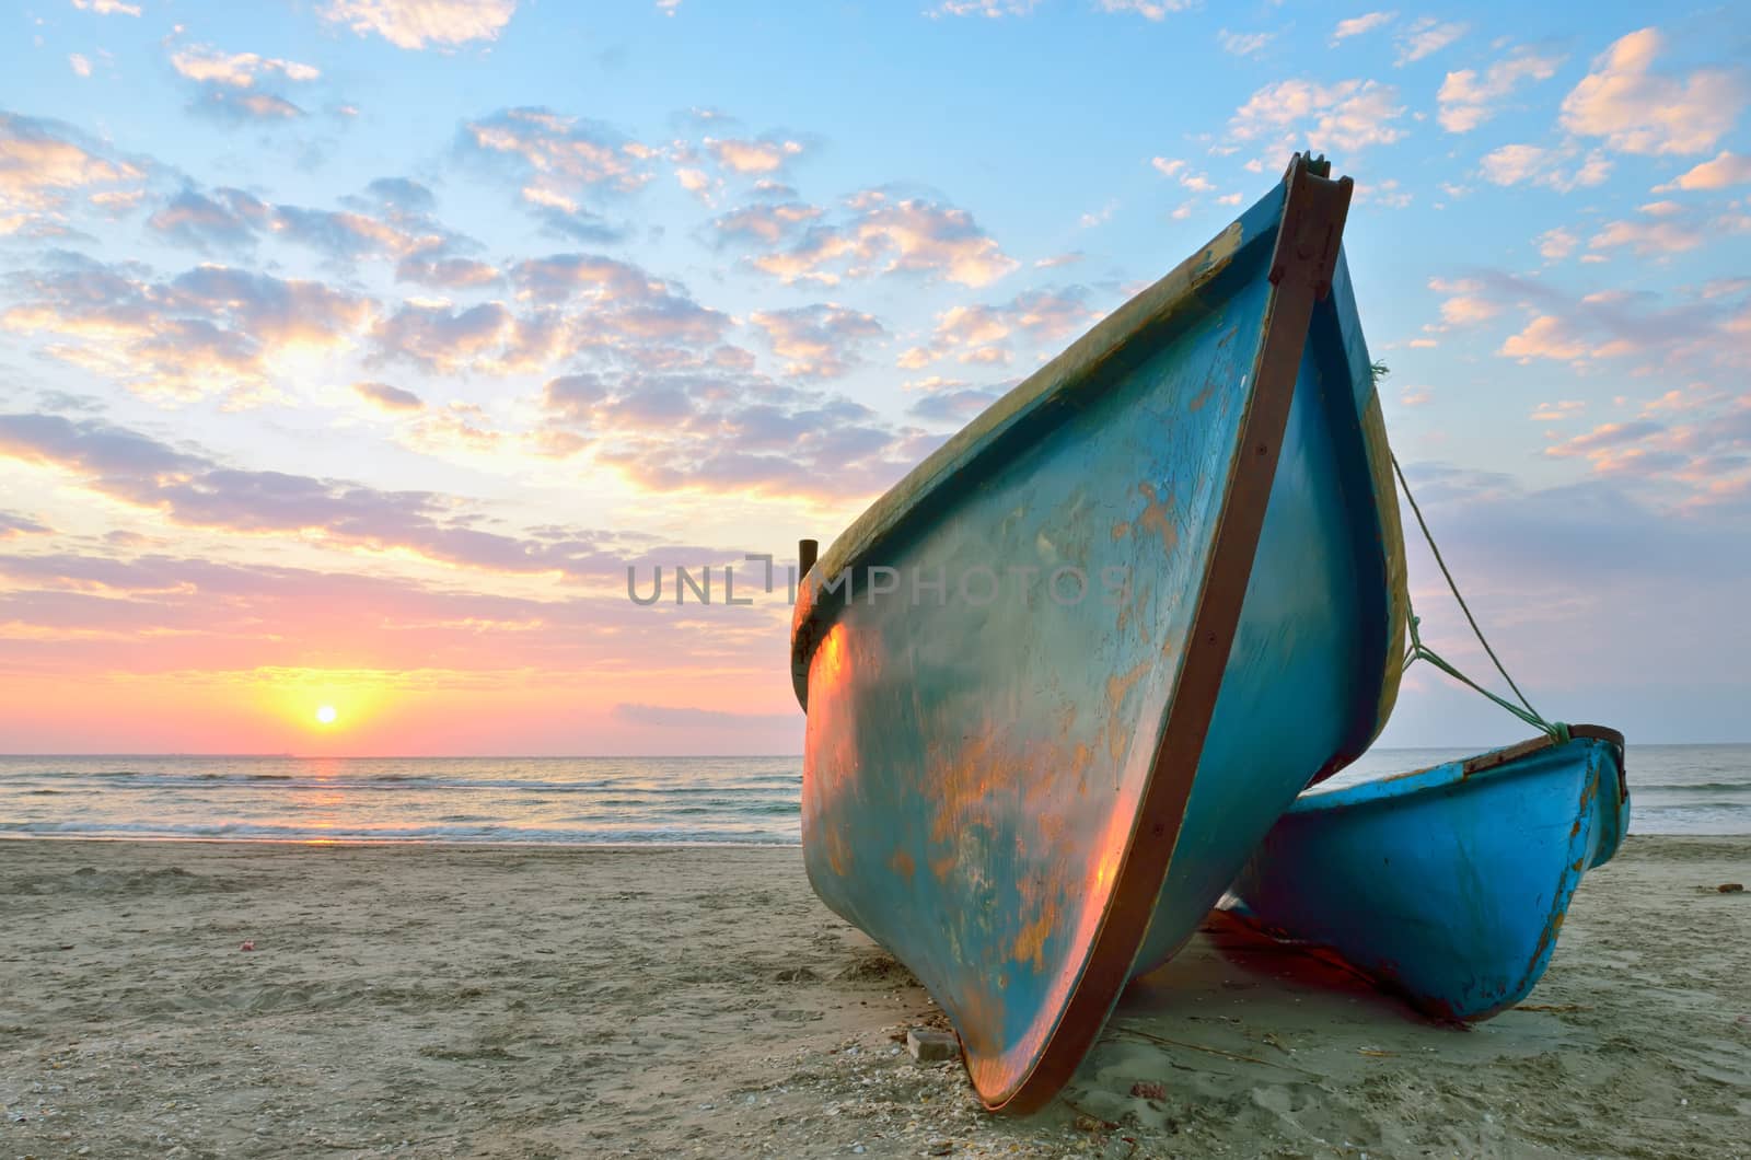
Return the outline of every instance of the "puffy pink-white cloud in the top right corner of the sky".
<path id="1" fill-rule="evenodd" d="M 1663 42 L 1642 28 L 1613 42 L 1593 70 L 1562 100 L 1562 128 L 1604 137 L 1611 149 L 1639 154 L 1691 154 L 1712 149 L 1746 103 L 1739 74 L 1698 68 L 1688 77 L 1653 72 Z"/>

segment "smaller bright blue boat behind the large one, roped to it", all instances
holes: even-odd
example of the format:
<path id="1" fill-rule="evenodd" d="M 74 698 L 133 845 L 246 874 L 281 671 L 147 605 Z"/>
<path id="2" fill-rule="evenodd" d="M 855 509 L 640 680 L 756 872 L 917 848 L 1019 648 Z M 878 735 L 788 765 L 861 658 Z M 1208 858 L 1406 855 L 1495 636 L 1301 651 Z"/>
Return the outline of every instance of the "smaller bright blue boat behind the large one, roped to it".
<path id="1" fill-rule="evenodd" d="M 1623 736 L 1562 732 L 1303 794 L 1234 881 L 1231 909 L 1334 951 L 1434 1018 L 1511 1008 L 1544 974 L 1581 876 L 1628 825 Z"/>

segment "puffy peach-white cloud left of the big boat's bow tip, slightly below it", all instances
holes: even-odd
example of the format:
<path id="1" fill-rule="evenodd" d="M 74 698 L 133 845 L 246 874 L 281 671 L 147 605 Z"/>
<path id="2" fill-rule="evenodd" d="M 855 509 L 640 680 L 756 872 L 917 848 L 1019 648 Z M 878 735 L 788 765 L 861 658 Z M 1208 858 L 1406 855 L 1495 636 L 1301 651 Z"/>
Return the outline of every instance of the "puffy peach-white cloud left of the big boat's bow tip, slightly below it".
<path id="1" fill-rule="evenodd" d="M 865 189 L 844 202 L 839 221 L 797 207 L 788 216 L 739 210 L 714 224 L 723 242 L 783 244 L 748 259 L 784 282 L 837 286 L 844 279 L 919 273 L 961 286 L 989 286 L 1019 266 L 963 209 Z"/>

